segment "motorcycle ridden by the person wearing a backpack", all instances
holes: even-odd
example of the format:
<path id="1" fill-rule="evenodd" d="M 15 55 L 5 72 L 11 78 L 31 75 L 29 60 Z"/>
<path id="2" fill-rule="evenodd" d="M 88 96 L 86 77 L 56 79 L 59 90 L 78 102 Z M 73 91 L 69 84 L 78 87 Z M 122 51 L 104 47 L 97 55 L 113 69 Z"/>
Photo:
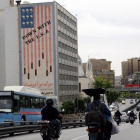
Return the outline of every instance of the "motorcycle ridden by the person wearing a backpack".
<path id="1" fill-rule="evenodd" d="M 89 140 L 105 140 L 103 128 L 99 123 L 89 123 L 86 131 L 88 131 Z"/>

